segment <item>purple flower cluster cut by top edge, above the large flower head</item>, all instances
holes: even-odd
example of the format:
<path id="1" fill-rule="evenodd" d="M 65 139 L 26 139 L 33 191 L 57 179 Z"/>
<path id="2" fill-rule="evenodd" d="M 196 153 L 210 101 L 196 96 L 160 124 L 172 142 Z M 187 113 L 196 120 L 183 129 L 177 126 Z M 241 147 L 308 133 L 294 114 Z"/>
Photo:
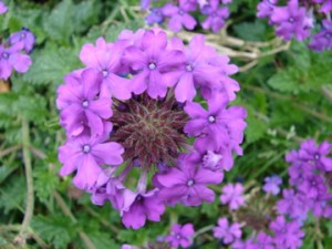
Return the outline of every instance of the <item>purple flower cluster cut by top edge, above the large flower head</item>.
<path id="1" fill-rule="evenodd" d="M 166 3 L 163 7 L 149 8 L 149 14 L 146 17 L 148 24 L 163 23 L 168 20 L 168 29 L 179 32 L 183 28 L 194 30 L 197 20 L 193 17 L 198 12 L 205 15 L 205 20 L 200 23 L 203 29 L 219 32 L 225 25 L 225 20 L 229 17 L 229 10 L 226 6 L 232 0 L 176 0 Z M 148 9 L 149 0 L 142 0 L 142 8 Z"/>

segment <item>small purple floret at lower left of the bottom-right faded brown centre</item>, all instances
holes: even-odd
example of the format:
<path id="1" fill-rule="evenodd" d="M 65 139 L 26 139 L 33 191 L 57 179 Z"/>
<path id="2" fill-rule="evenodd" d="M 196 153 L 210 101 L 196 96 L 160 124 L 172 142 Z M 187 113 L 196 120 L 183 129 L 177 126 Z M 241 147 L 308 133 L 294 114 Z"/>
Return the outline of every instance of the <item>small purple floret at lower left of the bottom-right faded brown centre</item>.
<path id="1" fill-rule="evenodd" d="M 226 245 L 240 239 L 242 231 L 240 225 L 238 222 L 229 225 L 227 218 L 218 219 L 218 226 L 214 228 L 214 237 L 222 239 L 222 242 Z"/>

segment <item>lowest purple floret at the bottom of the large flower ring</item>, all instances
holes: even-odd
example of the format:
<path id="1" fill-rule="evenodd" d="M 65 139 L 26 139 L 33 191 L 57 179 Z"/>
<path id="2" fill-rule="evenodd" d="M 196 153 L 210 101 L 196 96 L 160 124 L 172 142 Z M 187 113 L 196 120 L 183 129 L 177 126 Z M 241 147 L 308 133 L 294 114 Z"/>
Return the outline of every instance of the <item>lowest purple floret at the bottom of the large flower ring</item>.
<path id="1" fill-rule="evenodd" d="M 124 190 L 124 205 L 121 209 L 122 222 L 126 228 L 138 229 L 145 225 L 146 219 L 159 221 L 165 206 L 157 198 L 157 189 L 147 193 Z"/>

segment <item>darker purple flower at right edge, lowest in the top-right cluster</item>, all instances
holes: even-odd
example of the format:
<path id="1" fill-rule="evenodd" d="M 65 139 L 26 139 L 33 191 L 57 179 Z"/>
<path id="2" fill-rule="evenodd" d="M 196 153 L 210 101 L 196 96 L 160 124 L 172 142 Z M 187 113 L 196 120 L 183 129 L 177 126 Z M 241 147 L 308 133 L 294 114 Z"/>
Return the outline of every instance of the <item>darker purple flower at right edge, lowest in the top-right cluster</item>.
<path id="1" fill-rule="evenodd" d="M 323 20 L 322 22 L 323 29 L 319 33 L 314 34 L 309 43 L 309 48 L 314 51 L 332 49 L 332 21 Z"/>

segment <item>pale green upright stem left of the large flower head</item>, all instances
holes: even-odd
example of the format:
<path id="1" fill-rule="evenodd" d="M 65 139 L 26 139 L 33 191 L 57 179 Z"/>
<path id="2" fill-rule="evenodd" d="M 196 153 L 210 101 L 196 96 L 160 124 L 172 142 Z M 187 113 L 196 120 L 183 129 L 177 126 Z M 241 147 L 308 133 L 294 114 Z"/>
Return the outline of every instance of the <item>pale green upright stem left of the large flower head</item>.
<path id="1" fill-rule="evenodd" d="M 25 214 L 22 222 L 22 227 L 19 234 L 20 243 L 24 245 L 27 236 L 29 234 L 30 222 L 33 217 L 34 209 L 34 193 L 33 193 L 33 177 L 32 177 L 32 165 L 31 165 L 31 154 L 30 154 L 30 128 L 29 122 L 22 118 L 22 142 L 23 142 L 23 162 L 25 167 L 25 178 L 27 178 L 27 207 Z"/>

